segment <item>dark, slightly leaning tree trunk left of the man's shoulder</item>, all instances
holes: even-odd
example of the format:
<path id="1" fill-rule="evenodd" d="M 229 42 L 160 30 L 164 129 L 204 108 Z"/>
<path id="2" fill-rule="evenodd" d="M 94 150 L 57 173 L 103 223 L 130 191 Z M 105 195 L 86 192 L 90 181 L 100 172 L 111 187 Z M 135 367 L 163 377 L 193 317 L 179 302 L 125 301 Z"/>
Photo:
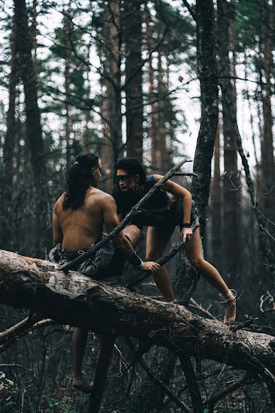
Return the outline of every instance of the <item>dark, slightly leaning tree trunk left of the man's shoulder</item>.
<path id="1" fill-rule="evenodd" d="M 36 191 L 36 253 L 46 245 L 43 236 L 47 234 L 50 222 L 47 220 L 47 181 L 44 158 L 44 143 L 37 103 L 36 74 L 32 61 L 32 37 L 28 28 L 28 19 L 24 0 L 14 1 L 14 21 L 19 68 L 25 93 L 25 112 L 27 138 L 31 153 L 31 164 Z M 49 239 L 50 240 L 50 239 Z"/>

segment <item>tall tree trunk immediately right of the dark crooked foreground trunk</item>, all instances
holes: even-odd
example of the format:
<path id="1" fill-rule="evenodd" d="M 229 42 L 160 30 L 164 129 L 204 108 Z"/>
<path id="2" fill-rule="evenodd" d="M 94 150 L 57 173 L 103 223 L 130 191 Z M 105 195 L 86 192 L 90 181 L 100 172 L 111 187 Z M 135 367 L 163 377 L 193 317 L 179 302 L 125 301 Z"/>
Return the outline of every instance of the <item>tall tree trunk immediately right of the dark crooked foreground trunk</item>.
<path id="1" fill-rule="evenodd" d="M 236 115 L 236 93 L 230 81 L 230 4 L 226 0 L 218 0 L 218 45 L 219 45 L 219 84 L 221 85 L 221 103 L 223 106 L 223 237 L 225 276 L 232 282 L 237 274 L 238 244 L 236 229 L 238 228 L 238 198 L 235 187 L 237 181 L 237 150 L 234 125 L 228 106 Z"/>

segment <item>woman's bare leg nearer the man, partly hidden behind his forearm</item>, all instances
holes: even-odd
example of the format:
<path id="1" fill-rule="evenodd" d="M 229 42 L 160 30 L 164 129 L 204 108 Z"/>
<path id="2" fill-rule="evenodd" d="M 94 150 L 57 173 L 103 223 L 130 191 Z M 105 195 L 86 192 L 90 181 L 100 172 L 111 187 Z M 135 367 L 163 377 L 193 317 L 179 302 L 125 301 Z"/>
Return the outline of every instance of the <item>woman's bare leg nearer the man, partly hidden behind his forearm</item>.
<path id="1" fill-rule="evenodd" d="M 148 226 L 146 238 L 146 261 L 156 261 L 162 257 L 174 230 L 175 228 L 161 229 L 155 226 Z M 174 301 L 175 295 L 166 269 L 164 267 L 160 268 L 160 270 L 153 275 L 153 278 L 157 288 L 166 301 Z"/>

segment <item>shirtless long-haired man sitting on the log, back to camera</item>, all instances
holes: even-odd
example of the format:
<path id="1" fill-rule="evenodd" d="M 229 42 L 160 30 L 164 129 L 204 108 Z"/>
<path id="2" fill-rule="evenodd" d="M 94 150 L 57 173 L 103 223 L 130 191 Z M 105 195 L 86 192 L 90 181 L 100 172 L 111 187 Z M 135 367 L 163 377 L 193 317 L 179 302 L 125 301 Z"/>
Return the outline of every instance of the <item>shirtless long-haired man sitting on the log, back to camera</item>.
<path id="1" fill-rule="evenodd" d="M 80 153 L 69 170 L 67 189 L 58 198 L 54 207 L 52 220 L 54 248 L 49 253 L 52 262 L 65 264 L 87 250 L 91 244 L 98 242 L 102 237 L 103 224 L 109 232 L 118 226 L 115 200 L 111 195 L 96 189 L 101 177 L 101 169 L 98 156 Z M 160 268 L 159 264 L 142 262 L 133 250 L 133 245 L 139 236 L 140 230 L 135 225 L 128 226 L 115 237 L 113 243 L 109 242 L 105 248 L 102 248 L 102 251 L 94 257 L 94 261 L 93 257 L 91 260 L 86 260 L 75 268 L 76 271 L 93 277 L 100 276 L 108 264 L 113 270 L 113 260 L 121 261 L 120 254 L 122 254 L 133 266 L 155 273 Z M 85 393 L 91 392 L 92 388 L 92 383 L 83 378 L 81 370 L 87 335 L 87 331 L 74 328 L 72 341 L 72 386 Z"/>

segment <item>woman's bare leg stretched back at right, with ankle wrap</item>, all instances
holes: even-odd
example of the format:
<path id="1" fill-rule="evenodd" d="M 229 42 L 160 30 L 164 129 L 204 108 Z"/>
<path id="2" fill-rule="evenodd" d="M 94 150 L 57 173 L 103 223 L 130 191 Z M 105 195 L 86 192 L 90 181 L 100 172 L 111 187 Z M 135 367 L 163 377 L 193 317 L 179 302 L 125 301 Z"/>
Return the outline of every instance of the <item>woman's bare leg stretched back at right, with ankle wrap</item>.
<path id="1" fill-rule="evenodd" d="M 234 299 L 234 295 L 221 278 L 219 271 L 204 260 L 200 242 L 198 228 L 195 233 L 193 233 L 192 241 L 186 242 L 185 248 L 188 261 L 192 266 L 198 268 L 203 277 L 223 295 L 227 305 L 223 321 L 227 324 L 231 323 L 236 319 L 236 299 Z"/>

